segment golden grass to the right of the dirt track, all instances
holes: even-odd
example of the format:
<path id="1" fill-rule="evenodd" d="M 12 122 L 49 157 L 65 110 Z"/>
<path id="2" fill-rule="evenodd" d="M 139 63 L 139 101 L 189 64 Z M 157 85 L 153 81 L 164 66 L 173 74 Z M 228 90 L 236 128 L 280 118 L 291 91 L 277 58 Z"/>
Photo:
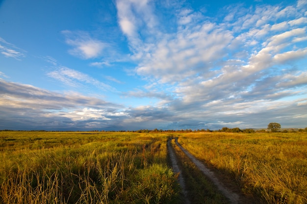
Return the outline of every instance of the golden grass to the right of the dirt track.
<path id="1" fill-rule="evenodd" d="M 306 133 L 188 133 L 179 143 L 247 196 L 307 204 Z"/>

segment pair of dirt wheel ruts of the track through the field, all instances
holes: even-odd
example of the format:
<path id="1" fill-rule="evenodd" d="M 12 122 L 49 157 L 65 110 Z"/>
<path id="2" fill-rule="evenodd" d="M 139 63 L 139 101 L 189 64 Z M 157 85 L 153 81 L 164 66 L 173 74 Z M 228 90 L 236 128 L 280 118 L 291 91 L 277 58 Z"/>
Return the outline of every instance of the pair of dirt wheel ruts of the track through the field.
<path id="1" fill-rule="evenodd" d="M 199 161 L 198 159 L 196 159 L 193 155 L 191 155 L 186 149 L 184 149 L 178 142 L 178 138 L 170 138 L 168 140 L 167 143 L 167 147 L 168 147 L 168 152 L 169 152 L 169 157 L 171 159 L 172 165 L 173 165 L 173 170 L 175 173 L 179 173 L 181 172 L 179 165 L 178 165 L 178 161 L 174 152 L 174 149 L 172 147 L 171 144 L 171 140 L 175 139 L 176 145 L 181 149 L 181 151 L 189 158 L 191 159 L 191 161 L 205 174 L 205 176 L 214 183 L 214 185 L 224 194 L 224 196 L 226 198 L 229 199 L 231 204 L 240 204 L 240 197 L 238 194 L 236 194 L 235 192 L 231 191 L 230 189 L 228 189 L 221 181 L 218 180 L 218 178 L 215 176 L 214 172 L 212 172 L 210 169 L 208 169 L 204 163 L 202 163 L 201 161 Z M 182 187 L 182 193 L 184 195 L 185 198 L 185 203 L 186 204 L 190 204 L 190 201 L 188 200 L 188 191 L 185 188 L 185 184 L 184 184 L 184 178 L 182 178 L 182 176 L 180 176 L 181 174 L 179 174 L 179 184 Z"/>

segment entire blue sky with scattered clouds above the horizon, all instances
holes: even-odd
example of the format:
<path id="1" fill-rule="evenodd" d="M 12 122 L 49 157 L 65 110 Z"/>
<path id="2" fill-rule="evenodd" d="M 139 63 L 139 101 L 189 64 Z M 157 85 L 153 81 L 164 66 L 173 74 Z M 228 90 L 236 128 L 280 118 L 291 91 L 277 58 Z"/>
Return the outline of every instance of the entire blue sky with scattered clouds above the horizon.
<path id="1" fill-rule="evenodd" d="M 0 0 L 0 130 L 307 127 L 307 0 Z"/>

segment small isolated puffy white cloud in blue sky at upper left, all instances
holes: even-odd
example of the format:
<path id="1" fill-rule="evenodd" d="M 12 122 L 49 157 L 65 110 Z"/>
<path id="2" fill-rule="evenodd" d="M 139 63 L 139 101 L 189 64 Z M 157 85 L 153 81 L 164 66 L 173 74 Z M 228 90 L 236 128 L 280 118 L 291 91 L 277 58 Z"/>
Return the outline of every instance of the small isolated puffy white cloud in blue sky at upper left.
<path id="1" fill-rule="evenodd" d="M 64 30 L 62 34 L 66 38 L 65 42 L 73 46 L 69 53 L 82 59 L 97 58 L 102 54 L 103 49 L 108 46 L 107 43 L 92 38 L 87 32 Z"/>

